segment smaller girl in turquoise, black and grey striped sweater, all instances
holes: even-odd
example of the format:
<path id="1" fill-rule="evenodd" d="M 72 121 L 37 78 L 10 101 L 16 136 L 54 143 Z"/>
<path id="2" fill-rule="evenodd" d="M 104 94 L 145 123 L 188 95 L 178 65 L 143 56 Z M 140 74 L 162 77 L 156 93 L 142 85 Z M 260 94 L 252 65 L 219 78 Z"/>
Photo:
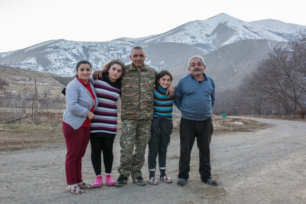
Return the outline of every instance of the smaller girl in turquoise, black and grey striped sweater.
<path id="1" fill-rule="evenodd" d="M 166 175 L 166 156 L 173 128 L 172 106 L 175 95 L 174 93 L 171 98 L 169 98 L 169 95 L 166 95 L 167 88 L 171 82 L 172 76 L 167 70 L 160 71 L 155 81 L 154 113 L 151 126 L 151 140 L 148 144 L 149 178 L 147 178 L 147 182 L 153 185 L 159 183 L 155 178 L 157 155 L 159 156 L 159 180 L 166 183 L 172 182 L 172 179 Z"/>

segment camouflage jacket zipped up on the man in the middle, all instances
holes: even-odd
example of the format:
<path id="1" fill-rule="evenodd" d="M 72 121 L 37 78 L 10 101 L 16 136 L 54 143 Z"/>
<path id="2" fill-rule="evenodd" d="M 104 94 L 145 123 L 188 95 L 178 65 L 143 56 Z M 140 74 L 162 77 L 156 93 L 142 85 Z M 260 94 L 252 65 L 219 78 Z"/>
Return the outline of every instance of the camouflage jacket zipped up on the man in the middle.
<path id="1" fill-rule="evenodd" d="M 155 69 L 125 66 L 121 86 L 121 119 L 152 119 Z"/>

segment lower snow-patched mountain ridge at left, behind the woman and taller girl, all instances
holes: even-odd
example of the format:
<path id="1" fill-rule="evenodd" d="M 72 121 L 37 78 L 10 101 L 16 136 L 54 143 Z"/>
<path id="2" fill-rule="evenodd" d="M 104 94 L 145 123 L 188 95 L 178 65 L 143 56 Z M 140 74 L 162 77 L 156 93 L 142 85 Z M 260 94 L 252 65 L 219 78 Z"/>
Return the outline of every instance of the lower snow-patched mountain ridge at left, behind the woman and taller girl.
<path id="1" fill-rule="evenodd" d="M 0 63 L 60 76 L 73 76 L 78 61 L 87 59 L 95 68 L 102 68 L 109 59 L 127 59 L 133 46 L 132 43 L 120 40 L 110 42 L 50 40 L 25 49 L 0 53 Z"/>

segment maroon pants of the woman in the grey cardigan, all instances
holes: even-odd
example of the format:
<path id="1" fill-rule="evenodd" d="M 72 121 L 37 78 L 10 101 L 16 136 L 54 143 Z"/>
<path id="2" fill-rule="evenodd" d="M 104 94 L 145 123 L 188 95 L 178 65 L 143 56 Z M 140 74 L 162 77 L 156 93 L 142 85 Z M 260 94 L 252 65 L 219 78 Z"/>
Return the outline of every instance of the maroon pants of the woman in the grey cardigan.
<path id="1" fill-rule="evenodd" d="M 68 185 L 82 182 L 82 157 L 86 152 L 90 137 L 90 127 L 73 129 L 63 124 L 67 154 L 65 162 L 66 180 Z"/>

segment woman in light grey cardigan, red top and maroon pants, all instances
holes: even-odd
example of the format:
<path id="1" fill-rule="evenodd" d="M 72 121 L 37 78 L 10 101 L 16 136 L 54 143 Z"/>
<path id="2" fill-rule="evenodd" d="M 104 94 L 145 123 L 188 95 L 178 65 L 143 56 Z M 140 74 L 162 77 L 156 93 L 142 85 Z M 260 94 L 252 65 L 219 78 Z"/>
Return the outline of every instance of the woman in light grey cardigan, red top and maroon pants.
<path id="1" fill-rule="evenodd" d="M 63 134 L 67 147 L 65 172 L 67 191 L 81 194 L 80 188 L 92 188 L 93 184 L 82 179 L 82 157 L 90 137 L 90 121 L 95 118 L 93 111 L 98 106 L 94 87 L 89 83 L 91 64 L 82 60 L 76 65 L 76 78 L 66 88 L 66 110 L 63 116 Z"/>

